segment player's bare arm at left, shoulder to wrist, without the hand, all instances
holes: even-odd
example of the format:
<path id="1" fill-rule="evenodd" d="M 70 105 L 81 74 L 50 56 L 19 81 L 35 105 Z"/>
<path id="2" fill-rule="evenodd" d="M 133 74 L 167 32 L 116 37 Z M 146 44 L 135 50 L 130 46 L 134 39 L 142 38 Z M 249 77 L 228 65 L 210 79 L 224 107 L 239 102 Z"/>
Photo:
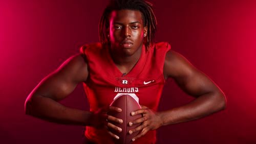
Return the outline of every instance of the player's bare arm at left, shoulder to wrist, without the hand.
<path id="1" fill-rule="evenodd" d="M 58 103 L 66 98 L 79 82 L 86 81 L 87 77 L 87 63 L 82 55 L 69 58 L 32 90 L 25 102 L 26 114 L 54 123 L 90 125 L 91 112 Z"/>

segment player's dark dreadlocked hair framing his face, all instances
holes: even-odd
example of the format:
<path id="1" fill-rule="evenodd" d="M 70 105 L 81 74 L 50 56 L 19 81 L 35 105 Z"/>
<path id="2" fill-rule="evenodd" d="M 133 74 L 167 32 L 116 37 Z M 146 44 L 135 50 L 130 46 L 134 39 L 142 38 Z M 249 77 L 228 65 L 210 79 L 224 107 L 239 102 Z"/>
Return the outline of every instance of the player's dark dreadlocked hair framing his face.
<path id="1" fill-rule="evenodd" d="M 142 13 L 143 26 L 147 27 L 146 48 L 150 48 L 156 33 L 157 20 L 153 12 L 153 5 L 144 0 L 110 0 L 105 8 L 99 22 L 99 39 L 101 43 L 108 43 L 108 29 L 110 27 L 109 16 L 115 10 L 138 10 Z"/>

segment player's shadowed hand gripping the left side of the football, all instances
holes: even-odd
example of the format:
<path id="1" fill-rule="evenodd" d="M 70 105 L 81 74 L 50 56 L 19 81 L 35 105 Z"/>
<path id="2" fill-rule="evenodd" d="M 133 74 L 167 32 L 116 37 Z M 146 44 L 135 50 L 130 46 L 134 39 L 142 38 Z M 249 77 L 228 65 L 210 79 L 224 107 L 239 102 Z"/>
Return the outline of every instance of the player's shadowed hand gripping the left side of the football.
<path id="1" fill-rule="evenodd" d="M 122 109 L 118 107 L 112 107 L 112 106 L 99 109 L 98 111 L 93 113 L 93 116 L 91 118 L 91 125 L 98 129 L 104 128 L 108 131 L 108 133 L 112 137 L 119 139 L 119 137 L 114 133 L 112 133 L 109 129 L 113 129 L 115 131 L 121 132 L 122 129 L 113 124 L 114 123 L 122 124 L 123 120 L 120 118 L 108 115 L 107 113 L 110 111 L 121 112 Z"/>

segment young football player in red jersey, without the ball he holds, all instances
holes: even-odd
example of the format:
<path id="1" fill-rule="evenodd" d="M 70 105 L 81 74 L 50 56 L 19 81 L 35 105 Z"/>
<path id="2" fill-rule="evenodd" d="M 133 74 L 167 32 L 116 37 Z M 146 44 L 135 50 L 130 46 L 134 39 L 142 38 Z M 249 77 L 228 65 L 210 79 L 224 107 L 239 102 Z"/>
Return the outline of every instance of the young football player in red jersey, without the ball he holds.
<path id="1" fill-rule="evenodd" d="M 170 50 L 166 42 L 152 42 L 156 19 L 150 3 L 143 0 L 111 1 L 99 25 L 101 43 L 81 47 L 77 54 L 43 79 L 25 103 L 27 114 L 60 124 L 87 126 L 86 137 L 94 143 L 113 143 L 119 138 L 109 131 L 122 119 L 108 115 L 120 112 L 109 107 L 115 95 L 133 93 L 142 109 L 132 115 L 143 117 L 129 125 L 142 123 L 129 133 L 141 131 L 134 143 L 155 143 L 156 129 L 191 121 L 225 108 L 221 89 L 183 56 Z M 157 112 L 167 78 L 196 99 L 184 106 Z M 90 103 L 90 111 L 58 103 L 80 82 Z M 106 121 L 107 120 L 107 121 Z"/>

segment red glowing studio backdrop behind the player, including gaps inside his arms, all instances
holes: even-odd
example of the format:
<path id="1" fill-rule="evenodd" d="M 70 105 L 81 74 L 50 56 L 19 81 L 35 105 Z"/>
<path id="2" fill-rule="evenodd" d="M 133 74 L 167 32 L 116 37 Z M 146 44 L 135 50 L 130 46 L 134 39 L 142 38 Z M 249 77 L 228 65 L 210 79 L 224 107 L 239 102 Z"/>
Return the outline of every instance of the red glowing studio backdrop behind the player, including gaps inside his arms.
<path id="1" fill-rule="evenodd" d="M 225 92 L 227 108 L 198 121 L 158 129 L 158 143 L 256 143 L 256 2 L 152 1 L 156 41 L 168 41 Z M 42 78 L 98 41 L 105 1 L 0 1 L 0 143 L 81 143 L 81 126 L 24 113 Z M 191 101 L 172 80 L 159 110 Z M 61 103 L 88 110 L 81 85 Z"/>

